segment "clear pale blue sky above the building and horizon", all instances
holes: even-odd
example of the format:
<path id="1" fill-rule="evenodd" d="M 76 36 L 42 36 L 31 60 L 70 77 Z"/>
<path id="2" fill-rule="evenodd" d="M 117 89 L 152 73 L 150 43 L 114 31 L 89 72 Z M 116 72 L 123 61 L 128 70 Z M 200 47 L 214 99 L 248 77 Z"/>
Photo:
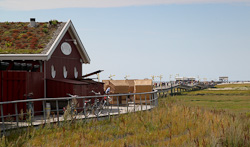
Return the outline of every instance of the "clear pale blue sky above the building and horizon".
<path id="1" fill-rule="evenodd" d="M 138 4 L 49 9 L 33 5 L 30 9 L 29 0 L 22 0 L 26 7 L 18 9 L 14 7 L 18 1 L 10 1 L 12 5 L 0 0 L 1 22 L 29 21 L 31 17 L 37 21 L 71 19 L 91 58 L 91 64 L 83 66 L 84 74 L 103 69 L 101 79 L 115 74 L 114 79 L 163 75 L 163 80 L 169 80 L 170 75 L 179 74 L 250 80 L 248 0 L 161 4 L 138 0 Z"/>

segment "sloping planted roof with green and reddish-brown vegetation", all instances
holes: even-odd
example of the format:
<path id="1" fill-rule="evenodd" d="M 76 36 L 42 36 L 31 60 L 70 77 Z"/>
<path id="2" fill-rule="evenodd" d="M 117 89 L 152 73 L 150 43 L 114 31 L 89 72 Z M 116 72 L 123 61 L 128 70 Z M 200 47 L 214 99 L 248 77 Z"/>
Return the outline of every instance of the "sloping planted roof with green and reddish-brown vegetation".
<path id="1" fill-rule="evenodd" d="M 57 20 L 37 23 L 0 23 L 0 54 L 39 54 L 53 37 L 59 24 Z"/>

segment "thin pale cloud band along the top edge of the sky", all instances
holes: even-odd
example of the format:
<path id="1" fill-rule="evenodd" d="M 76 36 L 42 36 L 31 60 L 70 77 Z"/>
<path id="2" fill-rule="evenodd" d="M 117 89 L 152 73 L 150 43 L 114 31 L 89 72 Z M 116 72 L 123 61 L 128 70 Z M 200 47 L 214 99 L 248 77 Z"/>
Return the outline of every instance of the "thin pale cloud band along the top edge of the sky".
<path id="1" fill-rule="evenodd" d="M 0 9 L 105 8 L 160 4 L 250 3 L 250 0 L 0 0 Z"/>

